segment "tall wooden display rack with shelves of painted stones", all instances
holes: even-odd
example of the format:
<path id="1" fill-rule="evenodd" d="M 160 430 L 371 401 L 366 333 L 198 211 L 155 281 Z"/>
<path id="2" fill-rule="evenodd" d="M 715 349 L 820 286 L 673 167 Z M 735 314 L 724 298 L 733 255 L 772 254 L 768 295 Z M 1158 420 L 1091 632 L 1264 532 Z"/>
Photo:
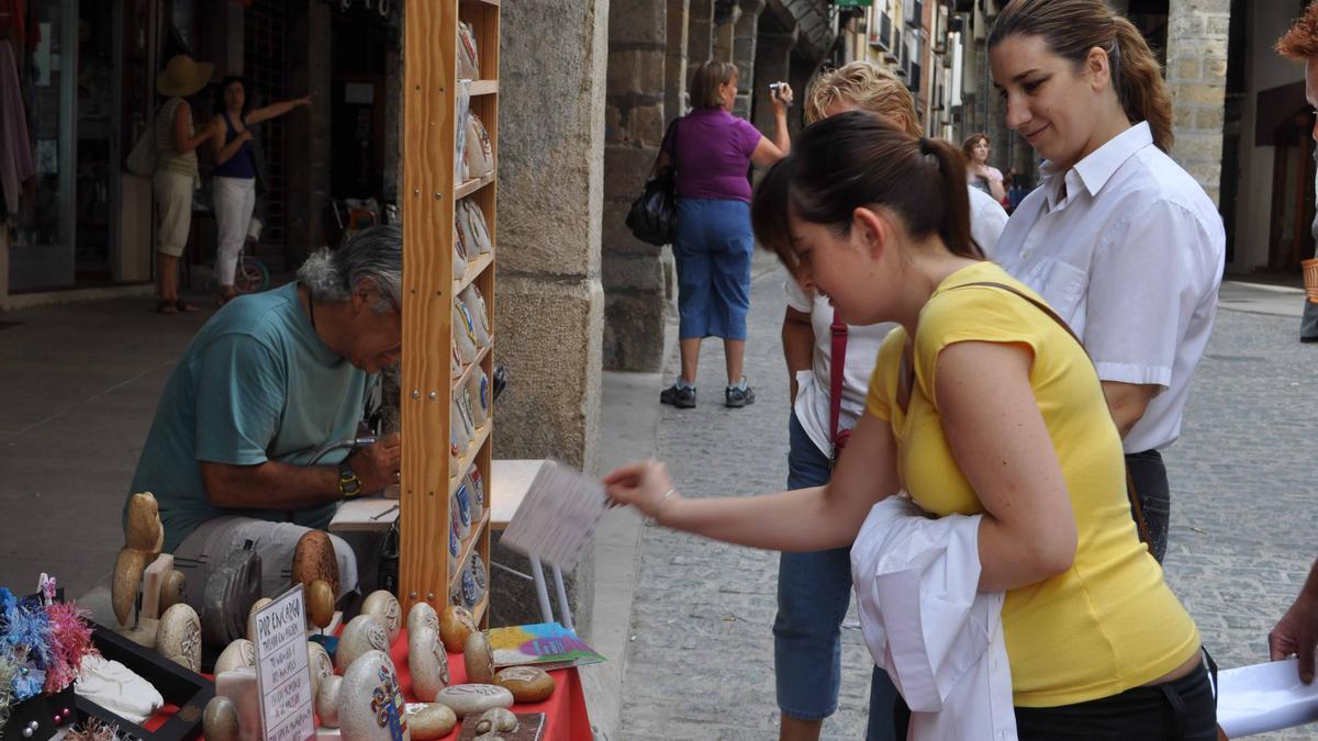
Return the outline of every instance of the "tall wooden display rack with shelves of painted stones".
<path id="1" fill-rule="evenodd" d="M 459 116 L 459 22 L 471 25 L 480 53 L 480 79 L 469 86 L 469 109 L 489 132 L 496 169 L 488 177 L 457 181 L 455 154 Z M 403 609 L 418 601 L 449 604 L 471 554 L 481 555 L 484 597 L 473 613 L 489 613 L 490 508 L 473 517 L 451 567 L 451 497 L 474 467 L 490 492 L 493 409 L 456 458 L 449 455 L 451 406 L 468 380 L 494 376 L 494 262 L 497 247 L 498 41 L 497 0 L 407 0 L 403 16 L 403 351 L 401 385 L 402 475 L 399 488 L 399 581 Z M 480 206 L 494 249 L 453 269 L 456 204 Z M 474 285 L 485 298 L 490 341 L 474 361 L 452 372 L 453 301 Z"/>

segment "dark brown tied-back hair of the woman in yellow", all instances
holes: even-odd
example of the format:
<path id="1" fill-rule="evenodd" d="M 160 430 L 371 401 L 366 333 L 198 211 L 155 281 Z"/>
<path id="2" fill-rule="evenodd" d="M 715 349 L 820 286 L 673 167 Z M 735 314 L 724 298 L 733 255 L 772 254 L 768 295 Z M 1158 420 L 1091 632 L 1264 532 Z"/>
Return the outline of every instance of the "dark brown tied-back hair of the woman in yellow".
<path id="1" fill-rule="evenodd" d="M 788 215 L 846 233 L 859 207 L 878 206 L 915 239 L 938 235 L 953 254 L 983 258 L 970 236 L 966 161 L 946 141 L 916 138 L 883 116 L 850 111 L 805 127 L 792 153 L 760 179 L 755 237 L 796 268 Z"/>

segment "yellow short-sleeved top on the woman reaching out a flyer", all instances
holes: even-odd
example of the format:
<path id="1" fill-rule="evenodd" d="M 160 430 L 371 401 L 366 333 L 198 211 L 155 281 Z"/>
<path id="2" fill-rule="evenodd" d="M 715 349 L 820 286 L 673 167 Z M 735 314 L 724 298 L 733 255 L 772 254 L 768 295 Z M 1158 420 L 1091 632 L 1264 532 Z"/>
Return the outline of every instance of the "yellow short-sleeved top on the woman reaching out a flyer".
<path id="1" fill-rule="evenodd" d="M 1002 608 L 1014 700 L 1056 707 L 1145 684 L 1199 649 L 1194 621 L 1131 518 L 1122 440 L 1083 348 L 1056 320 L 991 281 L 1037 298 L 991 262 L 957 270 L 933 293 L 915 338 L 909 403 L 896 403 L 904 330 L 879 349 L 866 413 L 888 422 L 911 497 L 934 516 L 985 512 L 957 465 L 934 403 L 938 352 L 957 341 L 1020 343 L 1033 351 L 1029 382 L 1057 448 L 1079 534 L 1065 574 L 1011 589 Z M 954 290 L 953 290 L 954 289 Z"/>

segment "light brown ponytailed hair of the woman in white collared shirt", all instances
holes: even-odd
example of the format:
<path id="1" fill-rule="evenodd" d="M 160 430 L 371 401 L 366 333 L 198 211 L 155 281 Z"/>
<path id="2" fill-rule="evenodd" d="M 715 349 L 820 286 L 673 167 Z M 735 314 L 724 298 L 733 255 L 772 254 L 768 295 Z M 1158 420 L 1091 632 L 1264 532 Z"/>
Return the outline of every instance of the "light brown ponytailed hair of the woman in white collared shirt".
<path id="1" fill-rule="evenodd" d="M 1012 36 L 1043 37 L 1053 53 L 1079 66 L 1089 50 L 1107 51 L 1112 87 L 1132 123 L 1148 121 L 1153 144 L 1172 152 L 1172 99 L 1157 57 L 1131 21 L 1103 0 L 1011 0 L 988 30 L 988 49 Z"/>

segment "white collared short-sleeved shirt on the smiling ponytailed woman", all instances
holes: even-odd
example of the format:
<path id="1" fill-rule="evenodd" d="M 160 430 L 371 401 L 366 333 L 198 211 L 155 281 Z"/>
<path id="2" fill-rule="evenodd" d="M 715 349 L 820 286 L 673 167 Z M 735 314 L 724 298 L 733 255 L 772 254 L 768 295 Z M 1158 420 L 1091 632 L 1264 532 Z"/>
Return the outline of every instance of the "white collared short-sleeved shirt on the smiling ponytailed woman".
<path id="1" fill-rule="evenodd" d="M 1070 324 L 1099 378 L 1162 388 L 1123 446 L 1165 447 L 1181 434 L 1190 376 L 1213 331 L 1222 218 L 1153 145 L 1147 123 L 1065 173 L 1046 163 L 1043 173 L 990 257 Z"/>

